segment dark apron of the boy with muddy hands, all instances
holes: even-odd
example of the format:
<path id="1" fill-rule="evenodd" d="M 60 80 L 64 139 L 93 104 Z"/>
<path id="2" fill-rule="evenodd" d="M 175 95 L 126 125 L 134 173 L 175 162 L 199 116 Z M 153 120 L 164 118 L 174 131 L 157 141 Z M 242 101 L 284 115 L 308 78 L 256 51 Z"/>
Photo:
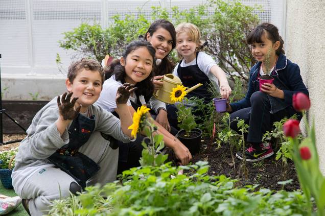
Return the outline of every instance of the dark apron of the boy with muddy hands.
<path id="1" fill-rule="evenodd" d="M 79 113 L 68 129 L 69 143 L 48 158 L 73 177 L 82 188 L 86 187 L 86 181 L 100 169 L 95 161 L 78 152 L 78 149 L 88 141 L 94 129 L 95 115 L 88 118 Z"/>

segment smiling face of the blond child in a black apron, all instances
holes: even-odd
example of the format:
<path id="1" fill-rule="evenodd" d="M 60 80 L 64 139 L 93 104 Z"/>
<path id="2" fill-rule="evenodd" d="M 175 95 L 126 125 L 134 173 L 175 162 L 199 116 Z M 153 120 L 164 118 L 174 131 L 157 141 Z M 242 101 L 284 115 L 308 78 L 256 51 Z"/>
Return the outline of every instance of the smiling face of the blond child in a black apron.
<path id="1" fill-rule="evenodd" d="M 184 58 L 185 62 L 190 62 L 195 59 L 195 51 L 197 44 L 186 32 L 177 34 L 176 50 Z"/>

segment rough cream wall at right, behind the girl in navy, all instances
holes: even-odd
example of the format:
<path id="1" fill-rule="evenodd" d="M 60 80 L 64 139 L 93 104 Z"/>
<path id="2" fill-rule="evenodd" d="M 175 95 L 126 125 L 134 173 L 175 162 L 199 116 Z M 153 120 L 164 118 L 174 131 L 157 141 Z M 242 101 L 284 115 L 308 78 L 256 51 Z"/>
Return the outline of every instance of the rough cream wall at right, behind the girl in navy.
<path id="1" fill-rule="evenodd" d="M 325 1 L 288 0 L 286 52 L 300 66 L 311 99 L 320 167 L 325 174 Z"/>

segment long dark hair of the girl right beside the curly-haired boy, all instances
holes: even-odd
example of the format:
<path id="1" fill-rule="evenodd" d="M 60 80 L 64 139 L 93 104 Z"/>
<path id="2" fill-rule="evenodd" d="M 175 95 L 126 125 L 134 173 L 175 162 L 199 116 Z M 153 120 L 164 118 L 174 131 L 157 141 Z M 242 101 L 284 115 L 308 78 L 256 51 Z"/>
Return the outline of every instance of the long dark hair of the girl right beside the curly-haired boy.
<path id="1" fill-rule="evenodd" d="M 125 64 L 127 64 L 126 57 L 132 51 L 135 51 L 140 47 L 147 48 L 147 50 L 149 51 L 149 53 L 152 57 L 152 64 L 154 66 L 155 65 L 154 58 L 155 58 L 156 50 L 148 41 L 145 41 L 145 40 L 132 41 L 125 47 L 125 50 L 122 54 L 122 57 L 125 60 Z M 126 76 L 125 67 L 121 65 L 119 59 L 114 60 L 110 64 L 110 66 L 106 69 L 105 78 L 108 79 L 111 75 L 115 75 L 115 79 L 117 81 L 121 81 L 122 84 L 125 83 L 125 76 Z M 135 85 L 137 87 L 137 89 L 135 90 L 136 95 L 144 95 L 146 101 L 151 98 L 152 93 L 153 93 L 154 86 L 152 84 L 152 77 L 153 77 L 153 73 L 150 73 L 150 75 L 145 80 L 143 80 Z"/>

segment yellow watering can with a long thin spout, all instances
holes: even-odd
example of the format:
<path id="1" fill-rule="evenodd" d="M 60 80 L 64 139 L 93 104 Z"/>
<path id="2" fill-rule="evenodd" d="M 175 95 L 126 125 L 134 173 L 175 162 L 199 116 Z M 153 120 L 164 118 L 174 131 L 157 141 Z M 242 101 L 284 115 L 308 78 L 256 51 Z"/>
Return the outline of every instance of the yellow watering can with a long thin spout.
<path id="1" fill-rule="evenodd" d="M 153 96 L 159 101 L 165 102 L 167 104 L 174 104 L 175 102 L 171 100 L 170 95 L 173 91 L 173 88 L 176 88 L 177 85 L 182 85 L 182 81 L 179 79 L 179 77 L 172 74 L 166 74 L 164 75 L 164 78 L 162 78 L 162 87 L 153 93 Z M 185 87 L 187 88 L 185 92 L 189 93 L 201 85 L 202 84 L 199 83 L 191 88 Z"/>

